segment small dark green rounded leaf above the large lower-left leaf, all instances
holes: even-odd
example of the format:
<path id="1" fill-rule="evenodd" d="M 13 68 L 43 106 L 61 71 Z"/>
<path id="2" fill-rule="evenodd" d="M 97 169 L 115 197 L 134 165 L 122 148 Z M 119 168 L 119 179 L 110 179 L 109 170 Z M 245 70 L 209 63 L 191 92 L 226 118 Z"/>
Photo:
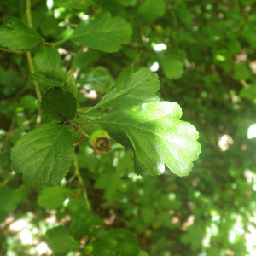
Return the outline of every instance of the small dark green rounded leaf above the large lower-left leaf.
<path id="1" fill-rule="evenodd" d="M 75 118 L 78 102 L 73 93 L 55 86 L 44 93 L 41 109 L 45 117 L 58 123 Z"/>

